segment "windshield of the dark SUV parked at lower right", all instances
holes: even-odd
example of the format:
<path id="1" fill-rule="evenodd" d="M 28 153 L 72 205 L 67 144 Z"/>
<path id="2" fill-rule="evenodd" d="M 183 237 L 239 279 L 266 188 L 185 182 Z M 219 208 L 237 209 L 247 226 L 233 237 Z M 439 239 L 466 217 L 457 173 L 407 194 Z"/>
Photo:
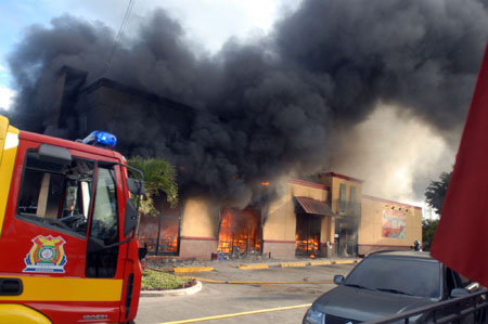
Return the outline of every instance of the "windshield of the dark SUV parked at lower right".
<path id="1" fill-rule="evenodd" d="M 440 263 L 401 258 L 364 259 L 344 285 L 393 294 L 438 298 Z"/>

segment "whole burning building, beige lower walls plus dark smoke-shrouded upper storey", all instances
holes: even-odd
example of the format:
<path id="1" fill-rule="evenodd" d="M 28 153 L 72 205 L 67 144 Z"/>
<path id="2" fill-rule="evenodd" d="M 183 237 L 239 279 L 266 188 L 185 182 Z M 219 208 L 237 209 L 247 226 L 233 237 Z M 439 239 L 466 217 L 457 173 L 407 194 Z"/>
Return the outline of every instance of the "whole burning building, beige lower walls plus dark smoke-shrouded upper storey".
<path id="1" fill-rule="evenodd" d="M 86 85 L 86 73 L 72 67 L 59 72 L 56 90 L 54 114 L 44 120 L 48 129 L 68 129 L 65 135 L 74 139 L 104 129 L 118 137 L 118 150 L 132 155 L 153 156 L 156 153 L 147 147 L 160 153 L 165 141 L 189 140 L 201 114 L 110 79 Z M 184 180 L 184 166 L 178 171 Z M 421 239 L 419 207 L 363 195 L 362 183 L 334 172 L 308 181 L 285 179 L 280 185 L 264 181 L 261 196 L 268 191 L 271 195 L 236 206 L 194 191 L 187 180 L 179 207 L 170 208 L 165 197 L 155 199 L 159 213 L 142 217 L 139 241 L 147 245 L 150 255 L 205 260 L 216 254 L 228 258 L 358 256 L 409 248 Z"/>

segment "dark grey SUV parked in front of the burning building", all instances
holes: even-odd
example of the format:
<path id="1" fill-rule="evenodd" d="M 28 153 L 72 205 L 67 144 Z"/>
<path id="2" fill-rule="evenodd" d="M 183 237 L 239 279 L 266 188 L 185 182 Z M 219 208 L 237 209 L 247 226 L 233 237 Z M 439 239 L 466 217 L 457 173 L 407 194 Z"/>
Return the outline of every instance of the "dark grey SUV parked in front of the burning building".
<path id="1" fill-rule="evenodd" d="M 336 275 L 334 282 L 338 287 L 313 302 L 304 316 L 304 324 L 377 320 L 467 295 L 479 287 L 431 258 L 428 252 L 419 251 L 372 254 L 356 265 L 347 278 Z M 410 323 L 424 323 L 427 315 L 412 317 Z"/>

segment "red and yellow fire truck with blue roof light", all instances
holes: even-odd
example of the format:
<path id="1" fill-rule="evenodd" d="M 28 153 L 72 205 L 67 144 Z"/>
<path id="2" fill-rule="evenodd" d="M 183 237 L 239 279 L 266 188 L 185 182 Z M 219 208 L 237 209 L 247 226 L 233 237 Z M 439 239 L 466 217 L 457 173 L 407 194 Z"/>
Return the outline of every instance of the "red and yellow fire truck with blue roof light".
<path id="1" fill-rule="evenodd" d="M 0 116 L 0 323 L 136 317 L 142 271 L 131 194 L 142 181 L 120 154 L 97 147 L 115 137 L 84 142 L 93 145 L 20 131 Z"/>

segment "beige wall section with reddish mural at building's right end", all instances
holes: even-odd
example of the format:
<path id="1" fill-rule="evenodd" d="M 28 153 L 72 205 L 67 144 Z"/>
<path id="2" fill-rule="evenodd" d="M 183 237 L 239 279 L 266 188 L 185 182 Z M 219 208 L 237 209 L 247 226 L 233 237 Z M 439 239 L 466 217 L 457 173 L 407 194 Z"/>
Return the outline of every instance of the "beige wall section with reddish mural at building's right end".
<path id="1" fill-rule="evenodd" d="M 368 255 L 375 250 L 385 249 L 410 249 L 414 241 L 422 242 L 422 208 L 398 202 L 363 196 L 361 209 L 362 217 L 358 236 L 360 255 Z M 396 215 L 399 217 L 401 220 L 399 225 L 404 220 L 404 235 L 400 237 L 385 237 L 386 233 L 383 231 L 383 223 L 389 217 L 387 212 L 390 212 L 389 216 Z"/>

